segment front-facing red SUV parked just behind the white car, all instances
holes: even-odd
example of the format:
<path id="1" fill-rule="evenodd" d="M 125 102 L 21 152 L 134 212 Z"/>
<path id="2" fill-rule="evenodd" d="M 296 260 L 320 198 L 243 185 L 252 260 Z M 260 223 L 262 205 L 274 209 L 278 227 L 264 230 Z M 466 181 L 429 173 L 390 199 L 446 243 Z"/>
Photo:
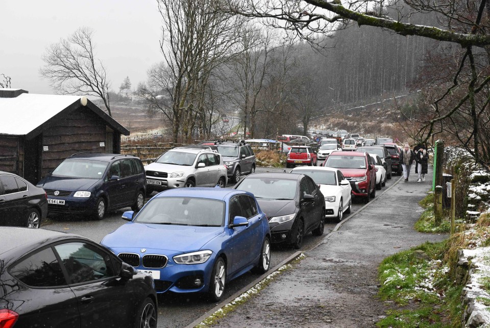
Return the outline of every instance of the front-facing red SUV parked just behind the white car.
<path id="1" fill-rule="evenodd" d="M 365 202 L 376 197 L 376 169 L 367 152 L 334 151 L 323 166 L 339 169 L 351 183 L 352 195 L 364 197 Z"/>

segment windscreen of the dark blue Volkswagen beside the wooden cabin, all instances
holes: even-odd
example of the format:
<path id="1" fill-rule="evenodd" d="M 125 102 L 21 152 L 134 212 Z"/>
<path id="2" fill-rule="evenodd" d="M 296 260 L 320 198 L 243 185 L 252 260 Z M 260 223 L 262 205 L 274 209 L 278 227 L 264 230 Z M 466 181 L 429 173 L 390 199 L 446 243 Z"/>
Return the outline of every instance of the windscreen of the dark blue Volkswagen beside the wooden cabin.
<path id="1" fill-rule="evenodd" d="M 61 162 L 53 171 L 57 177 L 101 179 L 109 162 L 100 160 L 68 158 Z"/>

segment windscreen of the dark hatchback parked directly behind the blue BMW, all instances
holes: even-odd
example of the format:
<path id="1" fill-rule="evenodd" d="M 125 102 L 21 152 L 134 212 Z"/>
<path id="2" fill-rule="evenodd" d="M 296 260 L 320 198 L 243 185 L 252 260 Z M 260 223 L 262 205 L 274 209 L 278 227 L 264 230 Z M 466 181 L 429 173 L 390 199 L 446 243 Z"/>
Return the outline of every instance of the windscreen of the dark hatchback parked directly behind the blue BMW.
<path id="1" fill-rule="evenodd" d="M 236 187 L 254 194 L 260 199 L 295 199 L 298 186 L 297 180 L 272 179 L 272 178 L 245 178 Z"/>

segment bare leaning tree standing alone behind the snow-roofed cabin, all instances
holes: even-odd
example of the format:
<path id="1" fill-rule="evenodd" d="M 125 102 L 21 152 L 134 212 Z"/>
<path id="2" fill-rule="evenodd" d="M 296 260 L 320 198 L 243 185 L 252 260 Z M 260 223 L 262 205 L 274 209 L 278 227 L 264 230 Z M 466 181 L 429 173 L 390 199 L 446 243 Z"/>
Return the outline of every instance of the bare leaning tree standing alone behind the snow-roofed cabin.
<path id="1" fill-rule="evenodd" d="M 110 81 L 102 61 L 94 54 L 93 30 L 79 28 L 58 43 L 51 44 L 42 55 L 45 65 L 39 70 L 51 87 L 61 94 L 87 94 L 102 99 L 111 115 Z"/>

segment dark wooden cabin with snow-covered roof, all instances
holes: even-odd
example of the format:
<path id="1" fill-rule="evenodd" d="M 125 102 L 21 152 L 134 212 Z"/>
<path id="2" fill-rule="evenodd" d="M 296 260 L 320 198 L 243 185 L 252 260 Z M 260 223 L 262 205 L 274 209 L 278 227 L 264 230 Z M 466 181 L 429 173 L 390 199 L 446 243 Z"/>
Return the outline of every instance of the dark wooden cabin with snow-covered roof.
<path id="1" fill-rule="evenodd" d="M 79 152 L 120 153 L 128 129 L 83 96 L 0 89 L 0 171 L 36 184 Z"/>

